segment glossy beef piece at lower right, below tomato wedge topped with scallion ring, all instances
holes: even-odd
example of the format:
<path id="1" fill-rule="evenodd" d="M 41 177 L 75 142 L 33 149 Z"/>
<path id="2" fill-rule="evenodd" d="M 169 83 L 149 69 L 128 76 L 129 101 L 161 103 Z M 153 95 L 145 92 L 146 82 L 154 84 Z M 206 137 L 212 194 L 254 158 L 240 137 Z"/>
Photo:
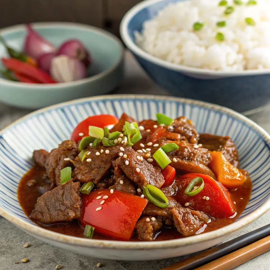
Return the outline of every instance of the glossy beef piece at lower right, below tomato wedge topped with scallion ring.
<path id="1" fill-rule="evenodd" d="M 184 236 L 194 235 L 209 220 L 207 214 L 189 208 L 174 207 L 171 213 L 174 226 Z"/>

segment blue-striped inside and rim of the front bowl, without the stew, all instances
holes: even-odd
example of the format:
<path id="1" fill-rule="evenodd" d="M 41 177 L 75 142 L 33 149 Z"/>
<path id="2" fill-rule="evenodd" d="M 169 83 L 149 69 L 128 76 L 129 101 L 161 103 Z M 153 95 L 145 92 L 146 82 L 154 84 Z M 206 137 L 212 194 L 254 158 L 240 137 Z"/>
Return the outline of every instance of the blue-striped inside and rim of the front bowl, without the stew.
<path id="1" fill-rule="evenodd" d="M 123 112 L 142 120 L 157 112 L 172 118 L 185 115 L 200 133 L 230 136 L 239 150 L 240 166 L 252 178 L 251 199 L 238 220 L 221 229 L 194 237 L 158 242 L 123 242 L 72 237 L 35 225 L 18 203 L 17 187 L 33 165 L 34 149 L 51 150 L 68 139 L 87 116 Z M 110 248 L 166 248 L 206 241 L 237 232 L 270 209 L 270 136 L 256 123 L 231 109 L 177 97 L 151 95 L 96 96 L 60 103 L 30 113 L 0 132 L 0 214 L 32 234 L 74 245 Z"/>

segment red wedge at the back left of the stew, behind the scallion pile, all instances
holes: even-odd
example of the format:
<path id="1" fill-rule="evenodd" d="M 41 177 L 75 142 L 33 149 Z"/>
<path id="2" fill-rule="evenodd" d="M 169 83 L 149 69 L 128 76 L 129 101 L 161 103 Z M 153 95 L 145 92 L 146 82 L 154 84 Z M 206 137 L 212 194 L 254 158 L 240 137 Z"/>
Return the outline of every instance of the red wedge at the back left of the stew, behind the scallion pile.
<path id="1" fill-rule="evenodd" d="M 118 123 L 118 118 L 111 115 L 111 114 L 100 114 L 100 115 L 93 115 L 82 122 L 80 122 L 75 129 L 73 130 L 70 139 L 76 141 L 76 143 L 81 140 L 83 137 L 89 136 L 89 126 L 95 126 L 95 127 L 103 127 L 109 126 L 109 125 L 115 125 Z M 83 134 L 80 136 L 79 134 Z"/>

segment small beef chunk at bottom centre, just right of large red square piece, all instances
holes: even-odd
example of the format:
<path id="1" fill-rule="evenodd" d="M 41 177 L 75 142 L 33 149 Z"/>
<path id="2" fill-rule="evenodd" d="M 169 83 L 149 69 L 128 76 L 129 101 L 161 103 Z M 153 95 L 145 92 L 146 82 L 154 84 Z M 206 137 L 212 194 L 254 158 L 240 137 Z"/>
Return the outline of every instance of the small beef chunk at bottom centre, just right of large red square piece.
<path id="1" fill-rule="evenodd" d="M 146 221 L 149 218 L 150 221 Z M 136 231 L 138 237 L 143 241 L 153 241 L 156 232 L 162 227 L 162 222 L 159 220 L 151 220 L 151 217 L 142 217 L 136 223 Z"/>

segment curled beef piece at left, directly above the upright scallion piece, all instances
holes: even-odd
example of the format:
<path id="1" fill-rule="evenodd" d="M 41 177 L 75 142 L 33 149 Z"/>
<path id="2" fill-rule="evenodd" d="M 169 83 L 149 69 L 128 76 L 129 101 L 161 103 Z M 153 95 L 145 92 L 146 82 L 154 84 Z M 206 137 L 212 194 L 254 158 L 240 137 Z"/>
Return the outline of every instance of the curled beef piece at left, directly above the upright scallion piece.
<path id="1" fill-rule="evenodd" d="M 78 147 L 75 141 L 66 140 L 53 149 L 46 159 L 45 168 L 48 177 L 53 184 L 60 185 L 60 171 L 72 165 L 70 160 L 74 160 L 78 154 Z M 65 160 L 69 158 L 70 160 Z"/>

